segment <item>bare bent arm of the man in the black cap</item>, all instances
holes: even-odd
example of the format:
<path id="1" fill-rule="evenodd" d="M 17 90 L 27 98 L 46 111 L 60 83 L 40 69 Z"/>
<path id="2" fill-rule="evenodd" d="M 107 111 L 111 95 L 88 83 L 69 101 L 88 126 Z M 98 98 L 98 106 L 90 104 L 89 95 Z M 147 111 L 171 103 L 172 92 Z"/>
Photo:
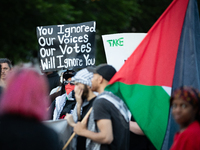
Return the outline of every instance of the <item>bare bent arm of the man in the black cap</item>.
<path id="1" fill-rule="evenodd" d="M 97 121 L 99 132 L 87 130 L 87 123 L 78 122 L 74 126 L 74 132 L 80 136 L 91 139 L 97 143 L 110 144 L 113 141 L 112 123 L 109 119 L 101 119 Z"/>

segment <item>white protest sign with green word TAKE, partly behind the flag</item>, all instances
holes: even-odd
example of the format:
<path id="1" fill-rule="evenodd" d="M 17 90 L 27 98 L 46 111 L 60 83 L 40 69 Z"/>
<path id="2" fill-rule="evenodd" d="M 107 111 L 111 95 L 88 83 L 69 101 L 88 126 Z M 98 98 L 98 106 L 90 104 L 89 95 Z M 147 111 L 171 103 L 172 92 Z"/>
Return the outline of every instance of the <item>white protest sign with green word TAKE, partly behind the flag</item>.
<path id="1" fill-rule="evenodd" d="M 146 33 L 119 33 L 103 35 L 107 63 L 118 71 Z"/>

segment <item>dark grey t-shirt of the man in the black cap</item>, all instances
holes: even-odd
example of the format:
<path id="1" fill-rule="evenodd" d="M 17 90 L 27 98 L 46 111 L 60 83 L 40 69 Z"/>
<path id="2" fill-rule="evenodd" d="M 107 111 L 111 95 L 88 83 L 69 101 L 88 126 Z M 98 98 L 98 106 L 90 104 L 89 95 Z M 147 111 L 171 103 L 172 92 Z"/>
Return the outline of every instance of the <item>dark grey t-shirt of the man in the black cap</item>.
<path id="1" fill-rule="evenodd" d="M 93 103 L 94 120 L 109 119 L 112 122 L 113 141 L 111 144 L 101 144 L 101 150 L 128 150 L 129 149 L 129 122 L 120 111 L 104 98 Z"/>

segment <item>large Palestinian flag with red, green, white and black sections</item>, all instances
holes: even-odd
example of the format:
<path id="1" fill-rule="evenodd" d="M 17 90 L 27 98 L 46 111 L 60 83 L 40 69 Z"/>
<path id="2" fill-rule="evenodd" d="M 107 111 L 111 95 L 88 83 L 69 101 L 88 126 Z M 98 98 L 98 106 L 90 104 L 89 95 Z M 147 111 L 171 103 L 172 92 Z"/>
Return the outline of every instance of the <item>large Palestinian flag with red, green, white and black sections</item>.
<path id="1" fill-rule="evenodd" d="M 196 48 L 193 32 L 191 31 L 189 35 L 182 34 L 183 29 L 191 29 L 185 26 L 186 21 L 189 21 L 185 19 L 188 13 L 194 11 L 189 6 L 195 2 L 195 0 L 190 2 L 174 0 L 105 89 L 124 100 L 140 128 L 157 149 L 162 148 L 168 126 L 169 98 L 176 73 L 175 66 L 185 69 L 185 64 L 181 61 L 180 66 L 176 65 L 177 59 L 191 57 L 193 62 L 197 61 L 196 52 L 188 55 L 183 52 L 184 57 L 177 56 L 181 49 L 193 51 L 192 47 L 186 46 L 187 42 Z M 191 14 L 188 16 L 191 19 Z M 182 45 L 179 45 L 180 42 Z M 190 61 L 190 58 L 187 61 Z M 190 65 L 191 62 L 188 66 Z M 192 67 L 196 68 L 198 64 L 193 63 L 193 65 Z M 184 70 L 187 71 L 189 74 L 193 73 Z M 190 77 L 188 74 L 182 75 L 184 79 Z M 180 75 L 177 78 L 180 78 Z M 196 78 L 192 80 L 196 81 Z"/>

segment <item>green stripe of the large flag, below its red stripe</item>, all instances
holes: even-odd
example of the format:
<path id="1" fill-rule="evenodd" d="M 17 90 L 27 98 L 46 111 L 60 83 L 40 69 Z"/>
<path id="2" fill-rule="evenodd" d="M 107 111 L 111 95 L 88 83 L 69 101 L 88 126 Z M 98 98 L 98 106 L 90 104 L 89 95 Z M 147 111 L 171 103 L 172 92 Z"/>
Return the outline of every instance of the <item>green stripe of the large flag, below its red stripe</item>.
<path id="1" fill-rule="evenodd" d="M 115 82 L 105 89 L 120 97 L 136 122 L 157 149 L 167 129 L 170 96 L 161 86 L 127 85 Z"/>

